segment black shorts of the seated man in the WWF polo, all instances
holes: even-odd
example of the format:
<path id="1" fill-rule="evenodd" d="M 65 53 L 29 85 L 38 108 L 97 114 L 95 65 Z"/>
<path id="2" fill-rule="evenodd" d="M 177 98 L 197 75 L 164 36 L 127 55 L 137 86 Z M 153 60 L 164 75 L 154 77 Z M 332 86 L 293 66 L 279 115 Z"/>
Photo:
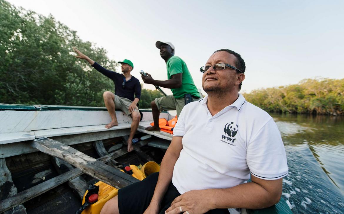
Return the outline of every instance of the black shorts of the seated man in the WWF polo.
<path id="1" fill-rule="evenodd" d="M 140 182 L 118 190 L 118 210 L 120 214 L 143 213 L 152 200 L 159 173 L 153 173 Z M 180 195 L 171 182 L 161 202 L 159 214 L 164 214 L 172 201 Z M 210 210 L 207 214 L 229 214 L 228 209 Z"/>

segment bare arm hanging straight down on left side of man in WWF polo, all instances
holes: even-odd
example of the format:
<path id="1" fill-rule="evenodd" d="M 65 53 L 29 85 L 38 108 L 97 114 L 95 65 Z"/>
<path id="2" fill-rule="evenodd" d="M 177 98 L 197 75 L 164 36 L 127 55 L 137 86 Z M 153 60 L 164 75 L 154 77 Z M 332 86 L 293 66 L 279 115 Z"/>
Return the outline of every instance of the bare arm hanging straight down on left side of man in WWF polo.
<path id="1" fill-rule="evenodd" d="M 153 198 L 145 213 L 155 213 L 159 211 L 160 203 L 172 180 L 174 165 L 183 148 L 182 138 L 183 137 L 173 136 L 172 142 L 162 158 L 158 183 L 155 187 Z"/>

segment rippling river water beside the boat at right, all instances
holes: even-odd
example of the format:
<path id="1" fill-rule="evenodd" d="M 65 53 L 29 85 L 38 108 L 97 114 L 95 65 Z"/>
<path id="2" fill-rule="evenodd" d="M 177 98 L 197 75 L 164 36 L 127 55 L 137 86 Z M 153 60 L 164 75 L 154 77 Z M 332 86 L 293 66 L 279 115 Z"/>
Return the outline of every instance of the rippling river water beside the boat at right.
<path id="1" fill-rule="evenodd" d="M 271 115 L 287 152 L 293 213 L 344 213 L 344 117 Z"/>

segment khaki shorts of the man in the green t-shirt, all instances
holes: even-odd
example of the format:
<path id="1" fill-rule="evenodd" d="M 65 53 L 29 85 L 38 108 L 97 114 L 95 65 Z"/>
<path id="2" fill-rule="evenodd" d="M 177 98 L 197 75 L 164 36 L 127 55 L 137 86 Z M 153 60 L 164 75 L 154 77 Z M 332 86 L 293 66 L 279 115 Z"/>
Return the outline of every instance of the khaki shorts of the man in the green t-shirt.
<path id="1" fill-rule="evenodd" d="M 200 98 L 192 97 L 192 102 L 199 100 Z M 185 106 L 185 99 L 176 99 L 173 95 L 167 95 L 164 97 L 155 98 L 155 104 L 160 111 L 177 110 L 177 117 Z"/>

